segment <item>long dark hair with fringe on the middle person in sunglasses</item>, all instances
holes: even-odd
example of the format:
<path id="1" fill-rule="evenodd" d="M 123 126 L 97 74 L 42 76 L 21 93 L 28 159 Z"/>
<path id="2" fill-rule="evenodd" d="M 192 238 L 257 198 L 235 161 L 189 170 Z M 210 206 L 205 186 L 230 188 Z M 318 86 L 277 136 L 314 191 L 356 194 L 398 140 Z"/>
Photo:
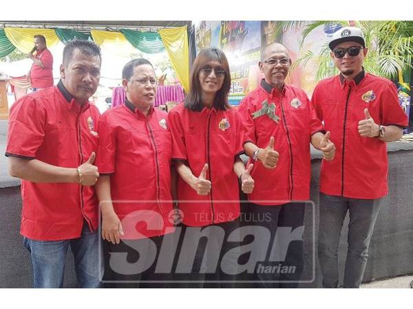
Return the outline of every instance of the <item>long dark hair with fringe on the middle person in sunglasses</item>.
<path id="1" fill-rule="evenodd" d="M 231 75 L 229 72 L 228 60 L 226 60 L 225 54 L 220 49 L 209 47 L 202 49 L 193 62 L 191 71 L 191 90 L 184 102 L 185 108 L 188 108 L 191 111 L 202 111 L 204 108 L 202 87 L 200 84 L 200 72 L 201 69 L 211 61 L 220 62 L 220 65 L 222 65 L 225 70 L 224 83 L 222 84 L 221 89 L 215 93 L 213 107 L 221 111 L 231 108 L 231 105 L 228 102 L 228 93 L 231 88 Z"/>

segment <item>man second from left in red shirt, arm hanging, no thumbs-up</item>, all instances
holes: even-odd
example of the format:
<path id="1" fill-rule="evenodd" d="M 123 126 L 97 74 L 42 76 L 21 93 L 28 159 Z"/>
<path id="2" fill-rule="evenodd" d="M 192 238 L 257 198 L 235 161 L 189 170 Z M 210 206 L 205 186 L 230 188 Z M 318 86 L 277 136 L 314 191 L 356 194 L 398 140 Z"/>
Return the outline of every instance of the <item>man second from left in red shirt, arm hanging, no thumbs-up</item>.
<path id="1" fill-rule="evenodd" d="M 169 218 L 172 144 L 167 113 L 153 108 L 156 76 L 151 62 L 129 61 L 122 77 L 125 104 L 106 111 L 98 126 L 96 165 L 101 176 L 96 193 L 107 240 L 104 279 L 119 287 L 147 286 L 148 280 L 166 287 L 170 274 L 156 273 L 155 256 L 164 235 L 174 230 Z M 128 258 L 116 258 L 120 253 Z"/>

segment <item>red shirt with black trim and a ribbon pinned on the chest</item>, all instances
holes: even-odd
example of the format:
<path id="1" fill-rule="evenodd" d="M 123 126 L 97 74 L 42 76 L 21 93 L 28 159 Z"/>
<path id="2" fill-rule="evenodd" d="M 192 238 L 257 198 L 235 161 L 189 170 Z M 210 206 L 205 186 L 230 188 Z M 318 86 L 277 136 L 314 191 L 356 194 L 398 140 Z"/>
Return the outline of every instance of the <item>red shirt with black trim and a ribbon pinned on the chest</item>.
<path id="1" fill-rule="evenodd" d="M 246 142 L 266 148 L 274 137 L 274 150 L 279 152 L 273 169 L 249 159 L 254 163 L 251 176 L 255 186 L 248 200 L 258 205 L 308 200 L 311 135 L 323 131 L 323 126 L 306 93 L 286 84 L 279 91 L 263 79 L 260 87 L 242 100 L 238 113 L 244 122 Z"/>

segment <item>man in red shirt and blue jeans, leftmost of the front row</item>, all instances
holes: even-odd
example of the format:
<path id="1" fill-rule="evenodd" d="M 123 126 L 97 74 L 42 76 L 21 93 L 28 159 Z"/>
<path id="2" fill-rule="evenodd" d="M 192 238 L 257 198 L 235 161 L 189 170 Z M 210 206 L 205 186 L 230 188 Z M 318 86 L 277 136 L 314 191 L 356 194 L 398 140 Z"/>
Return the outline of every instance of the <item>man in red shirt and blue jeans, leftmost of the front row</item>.
<path id="1" fill-rule="evenodd" d="M 21 235 L 33 264 L 35 288 L 59 288 L 67 249 L 78 285 L 100 285 L 98 203 L 92 185 L 99 111 L 89 104 L 100 79 L 100 49 L 70 41 L 56 87 L 30 93 L 11 108 L 6 156 L 21 179 Z"/>

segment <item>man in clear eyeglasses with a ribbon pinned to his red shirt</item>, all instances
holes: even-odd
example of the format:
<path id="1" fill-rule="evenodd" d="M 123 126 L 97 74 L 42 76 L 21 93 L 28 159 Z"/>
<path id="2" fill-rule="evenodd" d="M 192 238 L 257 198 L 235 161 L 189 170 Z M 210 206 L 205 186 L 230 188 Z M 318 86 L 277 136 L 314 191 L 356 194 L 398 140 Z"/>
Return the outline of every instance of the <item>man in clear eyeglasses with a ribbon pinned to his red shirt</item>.
<path id="1" fill-rule="evenodd" d="M 265 78 L 260 87 L 246 95 L 239 109 L 246 133 L 244 150 L 254 163 L 251 176 L 255 180 L 255 189 L 248 194 L 250 203 L 244 207 L 243 216 L 254 218 L 247 224 L 257 226 L 257 231 L 261 227 L 271 231 L 271 244 L 278 228 L 279 231 L 289 229 L 289 236 L 295 235 L 291 241 L 286 239 L 289 236 L 278 239 L 279 248 L 286 244 L 284 249 L 288 249 L 281 260 L 266 258 L 271 246 L 267 251 L 266 246 L 262 247 L 264 239 L 260 240 L 256 251 L 262 261 L 257 263 L 252 277 L 257 286 L 264 287 L 297 287 L 304 267 L 305 203 L 301 201 L 310 198 L 310 142 L 324 152 L 324 159 L 331 160 L 335 155 L 335 146 L 328 138 L 330 133 L 324 135 L 306 93 L 285 84 L 290 65 L 284 45 L 267 45 L 259 62 Z M 280 251 L 282 249 L 275 255 Z M 273 253 L 271 251 L 271 255 Z M 263 266 L 266 269 L 287 267 L 288 273 L 268 273 L 262 271 Z"/>

